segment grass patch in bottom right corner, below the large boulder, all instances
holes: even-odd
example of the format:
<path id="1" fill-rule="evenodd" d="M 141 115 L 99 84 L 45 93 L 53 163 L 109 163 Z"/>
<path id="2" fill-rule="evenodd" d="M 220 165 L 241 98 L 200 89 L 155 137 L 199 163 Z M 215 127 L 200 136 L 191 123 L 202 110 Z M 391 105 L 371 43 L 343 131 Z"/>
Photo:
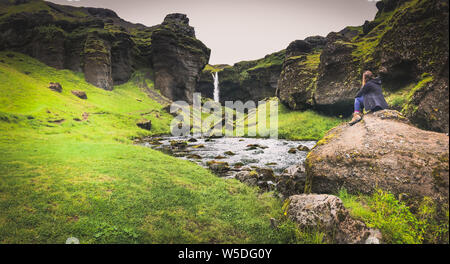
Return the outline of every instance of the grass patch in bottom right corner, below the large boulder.
<path id="1" fill-rule="evenodd" d="M 418 212 L 413 214 L 392 193 L 382 190 L 367 196 L 350 195 L 343 189 L 338 196 L 352 217 L 381 231 L 384 243 L 448 243 L 448 208 L 437 220 L 437 205 L 430 198 L 424 198 Z"/>

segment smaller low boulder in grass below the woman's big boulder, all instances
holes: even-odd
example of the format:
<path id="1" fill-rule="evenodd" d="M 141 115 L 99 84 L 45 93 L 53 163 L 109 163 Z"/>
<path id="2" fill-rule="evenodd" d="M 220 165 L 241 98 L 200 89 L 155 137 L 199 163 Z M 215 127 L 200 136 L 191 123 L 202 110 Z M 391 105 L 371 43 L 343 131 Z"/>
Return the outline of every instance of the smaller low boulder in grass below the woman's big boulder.
<path id="1" fill-rule="evenodd" d="M 301 229 L 318 230 L 338 244 L 379 244 L 381 233 L 351 218 L 341 199 L 326 194 L 289 197 L 287 215 Z"/>

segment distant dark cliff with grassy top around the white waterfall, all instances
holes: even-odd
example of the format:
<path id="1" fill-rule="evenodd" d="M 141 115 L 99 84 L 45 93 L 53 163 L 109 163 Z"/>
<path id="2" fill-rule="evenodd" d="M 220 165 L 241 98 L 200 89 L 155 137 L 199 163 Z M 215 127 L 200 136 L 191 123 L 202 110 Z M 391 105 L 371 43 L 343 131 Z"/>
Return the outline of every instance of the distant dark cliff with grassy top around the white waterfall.
<path id="1" fill-rule="evenodd" d="M 219 72 L 220 101 L 243 102 L 275 96 L 285 51 L 279 51 L 254 61 L 241 61 L 233 66 L 206 67 L 197 91 L 210 97 L 214 89 L 211 72 Z M 216 69 L 216 70 L 214 70 Z M 212 98 L 212 97 L 210 97 Z"/>

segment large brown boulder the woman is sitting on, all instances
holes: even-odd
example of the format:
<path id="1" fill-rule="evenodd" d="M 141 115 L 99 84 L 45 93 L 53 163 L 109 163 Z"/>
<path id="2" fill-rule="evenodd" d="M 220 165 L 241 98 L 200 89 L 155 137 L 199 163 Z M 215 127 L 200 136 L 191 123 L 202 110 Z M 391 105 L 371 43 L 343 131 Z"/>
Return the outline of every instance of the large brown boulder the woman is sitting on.
<path id="1" fill-rule="evenodd" d="M 390 191 L 409 204 L 423 197 L 448 204 L 449 138 L 410 125 L 399 112 L 367 114 L 330 130 L 307 156 L 305 190 Z"/>

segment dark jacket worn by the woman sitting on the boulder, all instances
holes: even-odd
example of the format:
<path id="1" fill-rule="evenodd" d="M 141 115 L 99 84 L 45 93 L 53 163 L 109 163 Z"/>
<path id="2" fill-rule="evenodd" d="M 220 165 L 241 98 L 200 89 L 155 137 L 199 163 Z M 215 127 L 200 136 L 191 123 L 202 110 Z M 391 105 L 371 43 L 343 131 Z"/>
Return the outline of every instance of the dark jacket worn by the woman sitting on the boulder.
<path id="1" fill-rule="evenodd" d="M 364 97 L 364 109 L 366 109 L 366 111 L 377 111 L 389 108 L 389 105 L 383 96 L 380 78 L 368 81 L 356 95 L 356 97 L 361 96 Z"/>

